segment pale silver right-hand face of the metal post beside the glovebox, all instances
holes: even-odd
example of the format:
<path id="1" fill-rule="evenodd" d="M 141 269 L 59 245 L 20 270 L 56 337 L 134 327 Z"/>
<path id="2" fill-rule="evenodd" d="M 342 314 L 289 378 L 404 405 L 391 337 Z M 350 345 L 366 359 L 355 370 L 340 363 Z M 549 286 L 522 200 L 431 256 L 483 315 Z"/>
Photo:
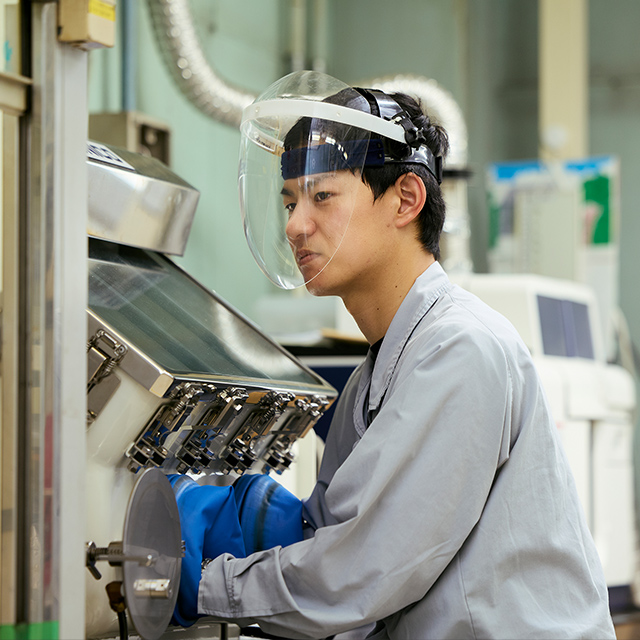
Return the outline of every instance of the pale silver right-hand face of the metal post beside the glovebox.
<path id="1" fill-rule="evenodd" d="M 56 7 L 51 7 L 57 14 Z M 51 18 L 57 33 L 57 18 Z M 84 568 L 84 496 L 86 451 L 83 434 L 86 415 L 86 354 L 82 338 L 86 327 L 87 248 L 83 233 L 87 220 L 87 181 L 84 150 L 87 139 L 87 67 L 88 54 L 68 44 L 56 43 L 58 52 L 58 198 L 54 222 L 56 340 L 54 379 L 57 400 L 54 404 L 58 459 L 55 482 L 60 572 L 58 587 L 59 638 L 78 637 L 84 616 L 78 602 L 85 597 Z M 81 182 L 80 182 L 81 181 Z M 80 183 L 80 184 L 79 184 Z M 81 435 L 82 434 L 82 435 Z M 78 548 L 80 547 L 80 548 Z"/>

